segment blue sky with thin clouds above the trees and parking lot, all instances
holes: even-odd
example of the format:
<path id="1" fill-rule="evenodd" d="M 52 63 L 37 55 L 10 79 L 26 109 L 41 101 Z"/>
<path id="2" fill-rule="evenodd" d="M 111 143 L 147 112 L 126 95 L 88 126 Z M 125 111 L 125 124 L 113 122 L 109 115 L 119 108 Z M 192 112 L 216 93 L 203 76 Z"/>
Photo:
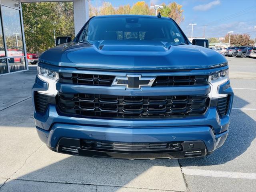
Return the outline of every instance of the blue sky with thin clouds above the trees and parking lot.
<path id="1" fill-rule="evenodd" d="M 93 6 L 100 7 L 102 2 L 110 2 L 112 6 L 130 4 L 132 6 L 139 0 L 92 0 Z M 169 4 L 171 0 L 144 0 L 150 4 Z M 256 38 L 256 0 L 174 0 L 182 5 L 184 10 L 184 21 L 180 27 L 186 34 L 191 36 L 192 26 L 193 37 L 202 37 L 204 25 L 206 38 L 224 37 L 228 31 L 235 34 L 250 34 L 251 38 Z"/>

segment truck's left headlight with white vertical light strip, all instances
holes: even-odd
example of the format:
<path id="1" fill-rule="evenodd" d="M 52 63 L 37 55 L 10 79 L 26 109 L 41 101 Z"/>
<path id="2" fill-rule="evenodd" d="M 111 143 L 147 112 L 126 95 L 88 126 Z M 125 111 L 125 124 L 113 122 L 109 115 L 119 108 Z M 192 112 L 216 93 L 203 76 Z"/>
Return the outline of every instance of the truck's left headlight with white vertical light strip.
<path id="1" fill-rule="evenodd" d="M 38 93 L 56 95 L 57 94 L 56 82 L 58 81 L 58 78 L 59 78 L 58 72 L 48 70 L 46 68 L 42 68 L 38 66 L 37 75 L 38 75 L 38 78 L 46 82 L 48 85 L 48 90 L 38 91 Z"/>

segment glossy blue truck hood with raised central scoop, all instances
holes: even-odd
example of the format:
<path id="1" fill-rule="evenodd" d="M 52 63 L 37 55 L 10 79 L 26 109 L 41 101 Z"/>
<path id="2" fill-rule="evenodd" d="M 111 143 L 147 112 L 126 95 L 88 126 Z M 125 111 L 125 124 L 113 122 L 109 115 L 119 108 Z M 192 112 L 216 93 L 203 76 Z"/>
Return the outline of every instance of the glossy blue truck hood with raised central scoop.
<path id="1" fill-rule="evenodd" d="M 102 70 L 207 69 L 227 62 L 218 52 L 201 46 L 133 40 L 61 44 L 41 54 L 39 61 Z"/>

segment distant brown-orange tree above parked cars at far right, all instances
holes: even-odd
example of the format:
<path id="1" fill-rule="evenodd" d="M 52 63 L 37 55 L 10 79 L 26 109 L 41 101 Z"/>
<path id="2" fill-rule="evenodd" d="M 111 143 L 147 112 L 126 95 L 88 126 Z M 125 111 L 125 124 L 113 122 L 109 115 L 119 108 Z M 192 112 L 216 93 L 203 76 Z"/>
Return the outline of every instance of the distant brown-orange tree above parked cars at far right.
<path id="1" fill-rule="evenodd" d="M 228 43 L 229 34 L 225 36 L 225 43 Z M 232 46 L 246 46 L 253 45 L 254 41 L 250 39 L 249 34 L 231 34 L 230 36 L 230 45 Z"/>

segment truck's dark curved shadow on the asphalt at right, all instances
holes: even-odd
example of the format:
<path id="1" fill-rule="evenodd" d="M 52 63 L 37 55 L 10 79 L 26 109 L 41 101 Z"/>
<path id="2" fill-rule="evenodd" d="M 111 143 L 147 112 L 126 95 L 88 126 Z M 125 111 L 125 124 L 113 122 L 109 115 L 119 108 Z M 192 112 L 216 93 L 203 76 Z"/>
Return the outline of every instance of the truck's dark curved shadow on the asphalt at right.
<path id="1" fill-rule="evenodd" d="M 248 102 L 234 96 L 234 101 L 239 106 L 246 106 Z M 233 106 L 236 104 L 233 103 Z M 182 166 L 210 166 L 229 162 L 243 154 L 256 138 L 255 120 L 241 110 L 231 111 L 231 122 L 228 138 L 224 145 L 218 148 L 213 154 L 200 158 L 181 159 Z"/>

